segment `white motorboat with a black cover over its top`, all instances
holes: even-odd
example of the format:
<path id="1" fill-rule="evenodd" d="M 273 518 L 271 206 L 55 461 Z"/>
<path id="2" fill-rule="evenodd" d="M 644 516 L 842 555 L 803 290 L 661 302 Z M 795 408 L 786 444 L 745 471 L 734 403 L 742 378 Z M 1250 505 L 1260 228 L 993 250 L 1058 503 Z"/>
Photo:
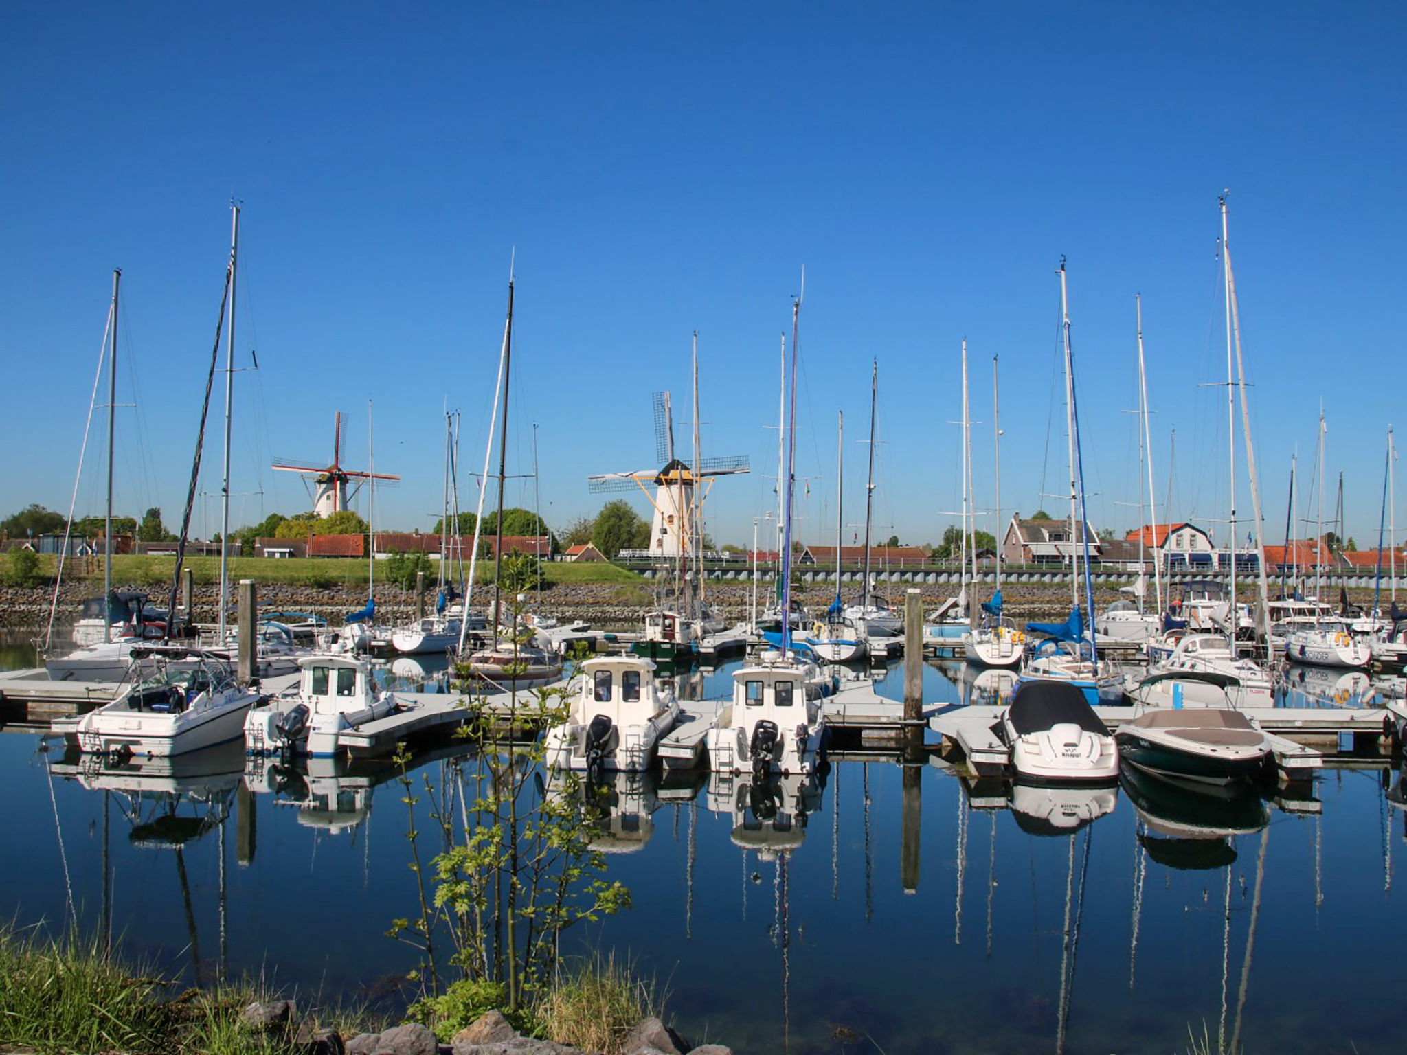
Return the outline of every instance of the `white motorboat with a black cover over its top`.
<path id="1" fill-rule="evenodd" d="M 1069 682 L 1019 684 L 995 731 L 1010 750 L 1017 778 L 1102 784 L 1119 776 L 1113 737 Z"/>

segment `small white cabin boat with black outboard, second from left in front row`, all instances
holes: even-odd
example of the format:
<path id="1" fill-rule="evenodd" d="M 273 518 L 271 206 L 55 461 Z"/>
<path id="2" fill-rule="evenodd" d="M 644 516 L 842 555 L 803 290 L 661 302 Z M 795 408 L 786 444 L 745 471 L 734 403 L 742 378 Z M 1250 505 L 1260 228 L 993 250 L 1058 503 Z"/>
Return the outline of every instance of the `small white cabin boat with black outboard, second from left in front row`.
<path id="1" fill-rule="evenodd" d="M 350 651 L 314 653 L 298 667 L 295 689 L 260 703 L 245 717 L 246 753 L 332 758 L 340 750 L 342 733 L 386 717 L 398 706 L 393 693 L 376 688 L 370 664 Z"/>

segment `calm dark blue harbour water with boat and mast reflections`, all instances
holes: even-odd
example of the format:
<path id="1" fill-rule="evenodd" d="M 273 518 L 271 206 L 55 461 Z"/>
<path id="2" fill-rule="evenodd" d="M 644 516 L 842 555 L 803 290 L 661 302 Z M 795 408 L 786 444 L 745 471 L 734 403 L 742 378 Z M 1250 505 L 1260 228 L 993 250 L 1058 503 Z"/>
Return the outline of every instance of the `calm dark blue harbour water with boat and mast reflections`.
<path id="1" fill-rule="evenodd" d="M 681 688 L 716 691 L 727 670 Z M 951 664 L 926 681 L 929 702 L 1002 691 Z M 1362 691 L 1309 682 L 1297 702 Z M 902 695 L 902 670 L 881 691 Z M 418 779 L 454 779 L 464 754 L 418 755 Z M 0 913 L 72 913 L 191 980 L 263 972 L 394 1006 L 414 952 L 384 931 L 415 900 L 394 775 L 280 782 L 238 748 L 84 771 L 10 731 Z M 620 778 L 629 816 L 602 845 L 635 907 L 570 944 L 629 955 L 687 1034 L 739 1052 L 1180 1052 L 1189 1024 L 1211 1051 L 1400 1051 L 1400 779 L 1328 769 L 1309 802 L 1209 816 L 1140 788 L 1054 812 L 1019 789 L 1016 812 L 1007 786 L 878 755 L 765 789 Z M 1169 827 L 1193 821 L 1235 834 Z"/>

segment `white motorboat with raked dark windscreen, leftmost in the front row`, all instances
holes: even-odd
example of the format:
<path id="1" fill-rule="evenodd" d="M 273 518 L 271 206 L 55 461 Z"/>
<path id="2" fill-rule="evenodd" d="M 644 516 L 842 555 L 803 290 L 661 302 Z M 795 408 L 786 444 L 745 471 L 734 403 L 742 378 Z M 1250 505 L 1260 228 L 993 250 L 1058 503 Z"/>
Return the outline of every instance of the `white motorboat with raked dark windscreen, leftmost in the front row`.
<path id="1" fill-rule="evenodd" d="M 70 744 L 84 754 L 174 755 L 239 738 L 259 693 L 228 661 L 179 646 L 139 646 L 131 656 L 152 660 L 155 674 L 68 726 Z"/>

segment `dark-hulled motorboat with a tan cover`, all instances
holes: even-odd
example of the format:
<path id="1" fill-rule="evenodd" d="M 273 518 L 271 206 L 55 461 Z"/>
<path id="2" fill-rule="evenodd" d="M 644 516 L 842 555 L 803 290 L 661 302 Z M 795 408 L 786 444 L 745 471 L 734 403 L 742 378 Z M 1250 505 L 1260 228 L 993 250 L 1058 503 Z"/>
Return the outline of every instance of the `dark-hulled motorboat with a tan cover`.
<path id="1" fill-rule="evenodd" d="M 1158 776 L 1197 784 L 1248 784 L 1271 765 L 1271 744 L 1231 708 L 1158 708 L 1114 730 L 1119 755 Z"/>

